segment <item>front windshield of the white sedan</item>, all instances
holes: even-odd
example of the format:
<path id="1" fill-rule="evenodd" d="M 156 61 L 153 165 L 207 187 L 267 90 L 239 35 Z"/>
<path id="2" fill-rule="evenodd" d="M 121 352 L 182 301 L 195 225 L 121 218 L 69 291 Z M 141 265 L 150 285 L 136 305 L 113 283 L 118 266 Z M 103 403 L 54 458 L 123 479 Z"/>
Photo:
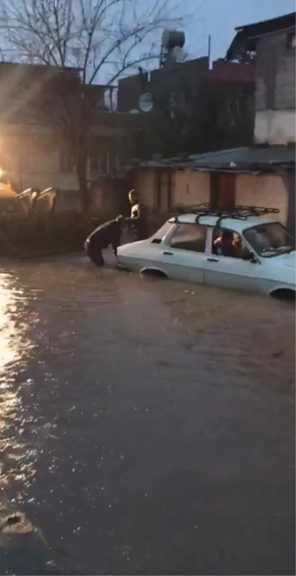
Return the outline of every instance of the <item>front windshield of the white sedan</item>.
<path id="1" fill-rule="evenodd" d="M 244 231 L 244 237 L 259 256 L 266 258 L 296 250 L 296 240 L 280 222 L 252 226 Z"/>

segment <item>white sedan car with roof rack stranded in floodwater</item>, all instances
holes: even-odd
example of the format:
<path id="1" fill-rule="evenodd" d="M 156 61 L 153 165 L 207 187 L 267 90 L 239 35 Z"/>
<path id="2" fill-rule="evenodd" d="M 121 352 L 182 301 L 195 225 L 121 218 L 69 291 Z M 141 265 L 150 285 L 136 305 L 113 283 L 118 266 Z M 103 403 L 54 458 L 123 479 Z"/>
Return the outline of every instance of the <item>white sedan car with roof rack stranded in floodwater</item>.
<path id="1" fill-rule="evenodd" d="M 141 274 L 296 296 L 296 241 L 285 226 L 268 218 L 276 213 L 241 206 L 231 214 L 213 214 L 207 205 L 197 206 L 170 218 L 148 240 L 120 246 L 118 262 Z M 236 257 L 218 253 L 217 238 L 225 229 L 233 233 L 241 257 L 240 251 Z"/>

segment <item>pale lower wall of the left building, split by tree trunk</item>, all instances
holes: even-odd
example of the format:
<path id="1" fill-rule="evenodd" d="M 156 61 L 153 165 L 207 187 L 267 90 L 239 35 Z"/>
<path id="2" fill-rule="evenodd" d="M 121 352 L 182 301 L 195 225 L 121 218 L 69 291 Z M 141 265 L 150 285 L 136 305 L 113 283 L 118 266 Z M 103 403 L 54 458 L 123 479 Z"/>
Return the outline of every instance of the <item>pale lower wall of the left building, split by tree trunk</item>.
<path id="1" fill-rule="evenodd" d="M 123 128 L 120 127 L 120 130 Z M 89 180 L 98 180 L 101 173 L 105 175 L 106 172 L 116 172 L 120 164 L 118 149 L 121 132 L 118 131 L 118 135 L 116 128 L 104 126 L 101 132 L 95 127 L 94 133 L 96 131 L 99 137 L 91 137 L 93 147 Z M 41 190 L 48 187 L 60 190 L 79 188 L 73 162 L 66 157 L 58 135 L 49 128 L 6 124 L 0 138 L 0 168 L 17 190 L 32 187 Z M 94 168 L 97 170 L 94 171 Z"/>

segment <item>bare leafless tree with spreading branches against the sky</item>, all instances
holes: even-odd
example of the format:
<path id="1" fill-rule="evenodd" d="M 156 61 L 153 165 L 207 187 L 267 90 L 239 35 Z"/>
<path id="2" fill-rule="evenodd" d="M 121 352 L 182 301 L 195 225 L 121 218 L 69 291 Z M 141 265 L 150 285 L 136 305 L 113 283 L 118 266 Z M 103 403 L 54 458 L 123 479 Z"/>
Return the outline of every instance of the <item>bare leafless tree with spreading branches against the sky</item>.
<path id="1" fill-rule="evenodd" d="M 94 85 L 113 86 L 122 73 L 156 59 L 159 39 L 156 43 L 155 34 L 180 23 L 180 4 L 178 0 L 152 0 L 151 4 L 148 0 L 0 0 L 0 22 L 2 54 L 10 61 L 79 69 L 79 81 L 72 82 L 71 89 L 60 85 L 63 113 L 56 107 L 59 118 L 55 113 L 54 120 L 70 145 L 85 206 L 87 142 L 101 96 Z"/>

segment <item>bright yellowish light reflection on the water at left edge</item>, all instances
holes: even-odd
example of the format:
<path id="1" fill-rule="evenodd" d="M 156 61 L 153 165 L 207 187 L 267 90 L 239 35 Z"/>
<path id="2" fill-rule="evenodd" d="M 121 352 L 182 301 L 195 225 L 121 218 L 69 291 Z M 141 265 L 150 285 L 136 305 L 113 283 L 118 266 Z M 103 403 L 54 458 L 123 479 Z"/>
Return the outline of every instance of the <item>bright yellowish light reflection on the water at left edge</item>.
<path id="1" fill-rule="evenodd" d="M 36 458 L 36 450 L 28 446 L 24 437 L 26 415 L 20 395 L 22 386 L 28 385 L 22 382 L 22 374 L 34 348 L 28 336 L 28 323 L 37 318 L 36 313 L 26 314 L 26 304 L 24 289 L 16 286 L 16 278 L 1 274 L 0 491 L 3 502 L 7 501 L 7 494 L 13 494 L 14 504 L 22 502 Z"/>

